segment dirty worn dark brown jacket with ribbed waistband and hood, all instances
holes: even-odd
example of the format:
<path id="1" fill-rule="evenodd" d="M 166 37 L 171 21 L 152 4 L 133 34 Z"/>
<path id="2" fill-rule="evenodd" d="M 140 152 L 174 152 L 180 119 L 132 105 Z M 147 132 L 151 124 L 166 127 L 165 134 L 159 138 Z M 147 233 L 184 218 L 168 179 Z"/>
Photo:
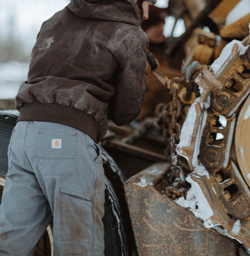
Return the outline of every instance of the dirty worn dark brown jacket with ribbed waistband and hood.
<path id="1" fill-rule="evenodd" d="M 20 120 L 77 128 L 96 142 L 138 117 L 148 38 L 135 0 L 71 0 L 42 24 L 28 81 L 16 96 Z"/>

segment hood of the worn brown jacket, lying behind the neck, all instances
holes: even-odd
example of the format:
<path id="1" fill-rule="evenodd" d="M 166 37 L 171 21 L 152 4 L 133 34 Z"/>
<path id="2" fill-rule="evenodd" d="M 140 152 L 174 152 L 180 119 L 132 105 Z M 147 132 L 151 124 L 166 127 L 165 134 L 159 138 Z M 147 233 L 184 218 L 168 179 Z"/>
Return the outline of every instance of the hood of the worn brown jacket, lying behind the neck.
<path id="1" fill-rule="evenodd" d="M 109 20 L 140 26 L 135 0 L 71 0 L 68 8 L 81 18 Z"/>

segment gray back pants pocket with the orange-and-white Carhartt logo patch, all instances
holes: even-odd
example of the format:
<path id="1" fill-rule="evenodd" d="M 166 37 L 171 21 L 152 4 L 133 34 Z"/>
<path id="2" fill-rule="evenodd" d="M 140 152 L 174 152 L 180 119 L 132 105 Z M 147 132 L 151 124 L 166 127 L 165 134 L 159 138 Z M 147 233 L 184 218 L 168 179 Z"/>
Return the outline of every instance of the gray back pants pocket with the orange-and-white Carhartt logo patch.
<path id="1" fill-rule="evenodd" d="M 77 167 L 77 131 L 39 130 L 37 164 L 50 175 L 71 174 Z"/>

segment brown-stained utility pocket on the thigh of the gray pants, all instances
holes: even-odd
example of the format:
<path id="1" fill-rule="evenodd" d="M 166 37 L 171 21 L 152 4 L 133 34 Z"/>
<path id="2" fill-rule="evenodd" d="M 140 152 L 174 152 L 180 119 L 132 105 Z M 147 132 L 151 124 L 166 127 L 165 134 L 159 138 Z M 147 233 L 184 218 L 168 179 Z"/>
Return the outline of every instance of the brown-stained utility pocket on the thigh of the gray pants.
<path id="1" fill-rule="evenodd" d="M 92 244 L 92 198 L 60 188 L 60 236 L 66 243 Z"/>

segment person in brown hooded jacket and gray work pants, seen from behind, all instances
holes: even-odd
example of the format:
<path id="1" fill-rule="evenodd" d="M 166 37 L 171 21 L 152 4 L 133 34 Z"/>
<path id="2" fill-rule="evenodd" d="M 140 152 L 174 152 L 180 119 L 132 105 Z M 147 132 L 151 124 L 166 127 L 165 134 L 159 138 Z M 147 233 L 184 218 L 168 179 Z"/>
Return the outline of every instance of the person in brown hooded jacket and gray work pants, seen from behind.
<path id="1" fill-rule="evenodd" d="M 140 114 L 156 0 L 71 0 L 42 24 L 8 151 L 0 255 L 32 255 L 53 218 L 54 255 L 104 255 L 102 159 L 107 117 Z M 140 8 L 138 8 L 140 6 Z"/>

